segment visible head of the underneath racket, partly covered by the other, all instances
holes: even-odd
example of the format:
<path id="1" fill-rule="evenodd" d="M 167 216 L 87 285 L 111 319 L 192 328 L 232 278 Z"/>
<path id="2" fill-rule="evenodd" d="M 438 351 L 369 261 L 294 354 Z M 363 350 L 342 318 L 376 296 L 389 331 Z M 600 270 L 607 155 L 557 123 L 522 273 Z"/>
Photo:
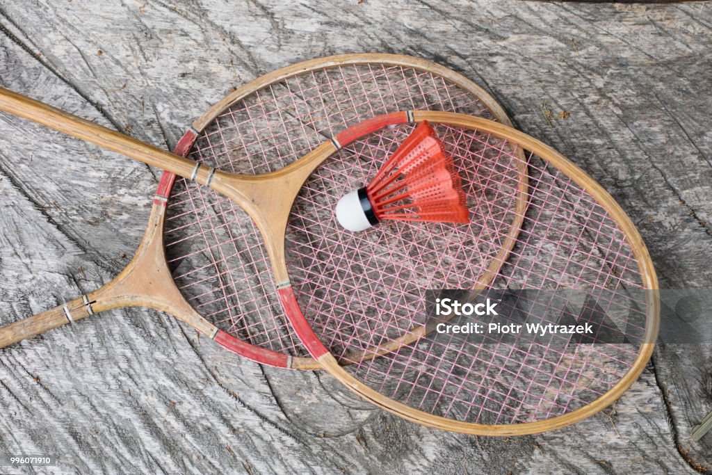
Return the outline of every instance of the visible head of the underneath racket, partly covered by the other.
<path id="1" fill-rule="evenodd" d="M 491 95 L 435 63 L 389 54 L 331 56 L 235 90 L 194 122 L 176 153 L 223 171 L 263 174 L 296 162 L 366 118 L 414 106 L 510 123 Z M 525 186 L 525 169 L 518 178 Z M 267 365 L 320 368 L 284 316 L 268 253 L 246 212 L 168 172 L 155 206 L 165 209 L 162 239 L 172 278 L 189 305 L 218 328 L 217 343 Z M 515 216 L 506 226 L 508 242 L 491 263 L 491 276 L 506 259 L 520 221 Z"/>

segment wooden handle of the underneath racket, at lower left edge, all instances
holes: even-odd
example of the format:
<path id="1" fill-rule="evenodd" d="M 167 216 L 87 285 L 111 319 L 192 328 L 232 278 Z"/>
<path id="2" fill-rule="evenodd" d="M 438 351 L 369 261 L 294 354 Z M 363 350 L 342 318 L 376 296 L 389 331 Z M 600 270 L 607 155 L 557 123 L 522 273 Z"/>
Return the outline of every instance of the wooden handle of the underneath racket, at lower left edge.
<path id="1" fill-rule="evenodd" d="M 66 323 L 92 315 L 86 308 L 83 298 L 75 298 L 64 305 L 38 313 L 32 317 L 10 323 L 0 328 L 0 348 L 17 343 Z M 71 320 L 70 320 L 71 318 Z"/>

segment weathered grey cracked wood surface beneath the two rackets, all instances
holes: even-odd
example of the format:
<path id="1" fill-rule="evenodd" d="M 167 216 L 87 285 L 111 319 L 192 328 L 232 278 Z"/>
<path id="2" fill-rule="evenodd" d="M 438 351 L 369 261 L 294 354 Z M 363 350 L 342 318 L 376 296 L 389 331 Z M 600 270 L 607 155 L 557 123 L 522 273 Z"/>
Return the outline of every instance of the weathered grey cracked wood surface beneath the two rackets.
<path id="1" fill-rule="evenodd" d="M 422 56 L 488 88 L 599 180 L 661 286 L 711 288 L 711 27 L 708 2 L 1 1 L 0 85 L 172 147 L 230 88 L 288 63 Z M 157 176 L 0 115 L 0 323 L 120 271 Z M 668 345 L 614 407 L 573 427 L 447 434 L 133 309 L 0 350 L 0 454 L 61 460 L 0 472 L 694 473 L 712 470 L 712 436 L 689 437 L 710 409 L 712 345 Z"/>

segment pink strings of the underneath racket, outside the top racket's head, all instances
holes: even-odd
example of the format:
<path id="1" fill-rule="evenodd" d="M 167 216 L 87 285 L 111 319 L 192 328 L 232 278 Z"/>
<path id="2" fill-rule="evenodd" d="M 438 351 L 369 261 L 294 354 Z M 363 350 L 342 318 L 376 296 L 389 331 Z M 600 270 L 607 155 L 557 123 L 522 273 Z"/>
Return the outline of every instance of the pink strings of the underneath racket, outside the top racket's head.
<path id="1" fill-rule="evenodd" d="M 439 75 L 401 66 L 340 66 L 247 95 L 199 132 L 189 157 L 229 172 L 270 172 L 362 120 L 414 108 L 491 118 L 472 93 Z M 284 317 L 256 226 L 229 199 L 177 179 L 165 249 L 177 285 L 211 323 L 261 348 L 308 355 Z"/>

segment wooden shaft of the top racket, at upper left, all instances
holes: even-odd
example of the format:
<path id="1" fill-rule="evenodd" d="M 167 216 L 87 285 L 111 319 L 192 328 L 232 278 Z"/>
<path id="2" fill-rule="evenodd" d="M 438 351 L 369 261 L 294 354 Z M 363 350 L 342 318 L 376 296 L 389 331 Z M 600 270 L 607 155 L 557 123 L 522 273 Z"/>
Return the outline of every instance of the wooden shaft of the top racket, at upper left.
<path id="1" fill-rule="evenodd" d="M 63 110 L 27 98 L 11 90 L 0 88 L 0 110 L 20 118 L 37 122 L 67 135 L 86 140 L 113 152 L 120 153 L 147 165 L 158 167 L 190 179 L 195 162 L 165 150 L 152 147 L 115 130 L 78 118 Z"/>

